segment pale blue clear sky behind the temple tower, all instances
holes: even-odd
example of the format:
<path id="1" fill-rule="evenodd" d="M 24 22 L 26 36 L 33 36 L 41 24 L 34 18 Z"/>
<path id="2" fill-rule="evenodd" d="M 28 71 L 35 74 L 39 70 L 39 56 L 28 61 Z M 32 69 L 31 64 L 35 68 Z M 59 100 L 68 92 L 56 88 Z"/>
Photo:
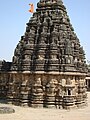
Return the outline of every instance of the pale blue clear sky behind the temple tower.
<path id="1" fill-rule="evenodd" d="M 29 3 L 36 9 L 39 0 L 0 0 L 0 60 L 11 61 L 14 49 L 26 30 L 32 13 Z M 86 59 L 90 60 L 90 0 L 63 0 Z"/>

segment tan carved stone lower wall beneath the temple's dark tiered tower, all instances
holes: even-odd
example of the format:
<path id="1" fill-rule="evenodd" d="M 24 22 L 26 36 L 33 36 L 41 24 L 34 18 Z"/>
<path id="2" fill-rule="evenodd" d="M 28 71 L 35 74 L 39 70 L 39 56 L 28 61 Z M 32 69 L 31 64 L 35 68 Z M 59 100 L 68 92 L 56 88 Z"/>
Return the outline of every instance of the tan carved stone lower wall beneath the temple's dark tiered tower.
<path id="1" fill-rule="evenodd" d="M 2 73 L 0 81 L 6 78 L 7 74 Z M 8 103 L 14 105 L 59 109 L 86 105 L 87 94 L 83 74 L 9 73 L 7 80 L 7 83 L 5 80 L 4 84 L 1 84 L 0 96 L 4 93 Z"/>

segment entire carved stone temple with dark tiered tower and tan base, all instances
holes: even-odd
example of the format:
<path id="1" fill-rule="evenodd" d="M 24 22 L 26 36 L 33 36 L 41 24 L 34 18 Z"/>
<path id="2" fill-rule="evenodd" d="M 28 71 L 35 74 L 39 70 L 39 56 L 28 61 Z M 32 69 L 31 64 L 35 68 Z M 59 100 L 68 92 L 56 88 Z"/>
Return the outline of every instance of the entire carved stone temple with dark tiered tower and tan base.
<path id="1" fill-rule="evenodd" d="M 85 53 L 62 0 L 40 0 L 12 62 L 0 61 L 0 99 L 30 107 L 86 105 Z"/>

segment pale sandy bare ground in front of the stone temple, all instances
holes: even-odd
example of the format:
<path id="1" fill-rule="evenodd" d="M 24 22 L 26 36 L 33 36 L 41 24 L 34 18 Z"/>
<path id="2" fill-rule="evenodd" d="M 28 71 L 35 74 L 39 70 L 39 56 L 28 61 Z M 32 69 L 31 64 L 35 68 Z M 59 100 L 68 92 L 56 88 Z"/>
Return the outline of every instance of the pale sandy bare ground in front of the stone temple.
<path id="1" fill-rule="evenodd" d="M 90 120 L 90 93 L 88 92 L 88 106 L 81 109 L 36 109 L 8 104 L 0 104 L 0 107 L 15 109 L 15 113 L 0 114 L 0 120 Z"/>

